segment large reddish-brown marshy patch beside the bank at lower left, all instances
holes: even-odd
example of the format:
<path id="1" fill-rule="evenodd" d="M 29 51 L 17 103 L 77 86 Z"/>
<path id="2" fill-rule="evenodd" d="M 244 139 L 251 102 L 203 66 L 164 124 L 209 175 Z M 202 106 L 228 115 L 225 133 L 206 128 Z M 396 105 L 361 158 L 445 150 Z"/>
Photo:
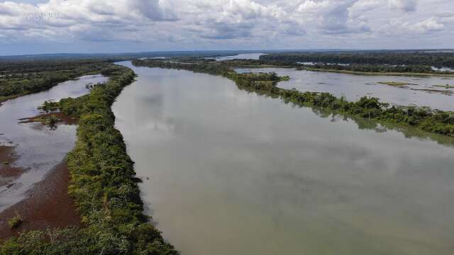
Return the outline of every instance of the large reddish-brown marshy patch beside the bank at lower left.
<path id="1" fill-rule="evenodd" d="M 74 199 L 67 192 L 69 183 L 70 172 L 64 159 L 27 191 L 27 198 L 0 212 L 0 243 L 17 237 L 20 232 L 45 231 L 48 227 L 80 227 Z M 16 229 L 10 229 L 8 220 L 17 213 L 23 217 L 23 223 Z"/>

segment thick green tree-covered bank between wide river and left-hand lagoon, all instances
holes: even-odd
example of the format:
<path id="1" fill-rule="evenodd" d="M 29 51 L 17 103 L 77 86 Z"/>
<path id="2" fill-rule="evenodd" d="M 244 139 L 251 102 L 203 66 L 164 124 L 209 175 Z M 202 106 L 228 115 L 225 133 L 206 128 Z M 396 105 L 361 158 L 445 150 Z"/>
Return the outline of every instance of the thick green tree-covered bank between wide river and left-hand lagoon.
<path id="1" fill-rule="evenodd" d="M 59 103 L 62 112 L 80 119 L 67 164 L 69 192 L 84 227 L 26 232 L 0 246 L 0 254 L 177 254 L 143 215 L 140 179 L 114 128 L 111 104 L 135 74 L 119 66 L 103 73 L 109 82 Z"/>

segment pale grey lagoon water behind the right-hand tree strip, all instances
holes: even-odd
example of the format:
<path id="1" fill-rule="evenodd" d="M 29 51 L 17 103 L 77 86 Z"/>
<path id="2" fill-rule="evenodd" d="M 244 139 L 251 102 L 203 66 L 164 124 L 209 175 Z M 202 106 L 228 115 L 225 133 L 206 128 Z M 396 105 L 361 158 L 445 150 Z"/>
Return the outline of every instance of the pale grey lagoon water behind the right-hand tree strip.
<path id="1" fill-rule="evenodd" d="M 289 75 L 289 81 L 279 82 L 284 89 L 299 91 L 329 92 L 335 96 L 346 96 L 348 100 L 358 100 L 362 96 L 375 96 L 382 102 L 396 103 L 402 106 L 430 106 L 445 111 L 454 111 L 454 94 L 441 94 L 438 91 L 453 91 L 434 85 L 454 86 L 454 77 L 405 77 L 387 75 L 355 75 L 333 72 L 298 71 L 291 68 L 253 68 L 236 69 L 237 72 L 276 72 Z M 405 87 L 379 84 L 380 81 L 399 81 L 410 85 Z"/>

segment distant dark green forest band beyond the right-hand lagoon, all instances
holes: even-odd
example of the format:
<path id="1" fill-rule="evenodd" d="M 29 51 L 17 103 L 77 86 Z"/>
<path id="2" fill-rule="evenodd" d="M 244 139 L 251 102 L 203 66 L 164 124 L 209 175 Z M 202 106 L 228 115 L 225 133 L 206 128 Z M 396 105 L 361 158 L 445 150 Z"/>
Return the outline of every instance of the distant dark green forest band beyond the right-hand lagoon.
<path id="1" fill-rule="evenodd" d="M 454 52 L 297 52 L 262 55 L 260 60 L 334 64 L 406 64 L 454 68 Z"/>

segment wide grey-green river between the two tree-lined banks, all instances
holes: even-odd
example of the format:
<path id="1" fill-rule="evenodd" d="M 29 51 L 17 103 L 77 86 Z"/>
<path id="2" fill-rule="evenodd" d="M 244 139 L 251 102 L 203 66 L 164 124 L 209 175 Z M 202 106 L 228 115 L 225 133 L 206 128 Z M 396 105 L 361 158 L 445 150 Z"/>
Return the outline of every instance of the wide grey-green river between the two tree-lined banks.
<path id="1" fill-rule="evenodd" d="M 448 137 L 358 128 L 223 77 L 122 64 L 138 77 L 114 103 L 116 127 L 147 213 L 183 255 L 454 254 Z"/>

